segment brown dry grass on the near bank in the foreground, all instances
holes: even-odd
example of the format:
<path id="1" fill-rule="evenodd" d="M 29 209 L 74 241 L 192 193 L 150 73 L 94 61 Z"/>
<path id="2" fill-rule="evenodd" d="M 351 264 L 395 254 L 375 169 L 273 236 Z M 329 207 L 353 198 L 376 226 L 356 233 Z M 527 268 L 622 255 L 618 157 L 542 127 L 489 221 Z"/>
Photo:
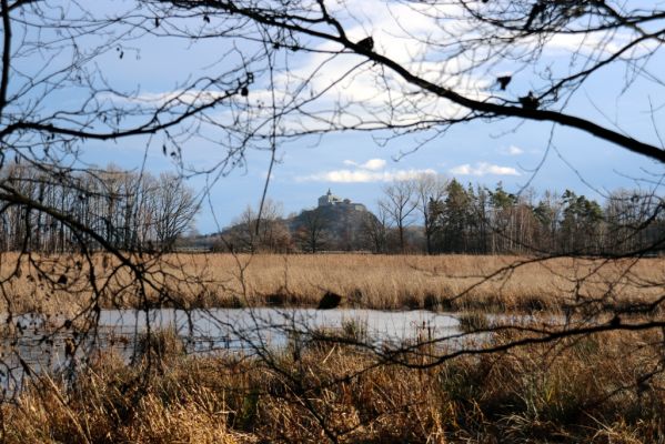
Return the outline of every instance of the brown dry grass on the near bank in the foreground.
<path id="1" fill-rule="evenodd" d="M 426 370 L 374 367 L 375 355 L 325 343 L 272 361 L 173 346 L 150 367 L 107 354 L 69 390 L 42 376 L 2 405 L 0 433 L 7 443 L 655 443 L 662 341 L 613 332 Z"/>

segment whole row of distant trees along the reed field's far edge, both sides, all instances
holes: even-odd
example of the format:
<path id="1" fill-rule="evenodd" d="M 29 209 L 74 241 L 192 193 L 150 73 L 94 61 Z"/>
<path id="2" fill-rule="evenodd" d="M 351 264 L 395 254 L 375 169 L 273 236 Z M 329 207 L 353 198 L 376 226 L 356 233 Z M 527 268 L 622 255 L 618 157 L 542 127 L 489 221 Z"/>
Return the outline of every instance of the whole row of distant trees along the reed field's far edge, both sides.
<path id="1" fill-rule="evenodd" d="M 193 228 L 199 210 L 193 191 L 173 173 L 11 164 L 0 182 L 27 202 L 0 201 L 0 251 L 99 249 L 91 232 L 119 250 L 171 251 Z M 665 243 L 663 199 L 638 190 L 614 191 L 599 203 L 571 190 L 514 194 L 501 182 L 490 189 L 423 174 L 385 185 L 375 208 L 375 213 L 316 208 L 284 218 L 282 205 L 268 200 L 260 219 L 258 210 L 246 208 L 212 246 L 276 253 L 618 255 L 655 254 Z"/>

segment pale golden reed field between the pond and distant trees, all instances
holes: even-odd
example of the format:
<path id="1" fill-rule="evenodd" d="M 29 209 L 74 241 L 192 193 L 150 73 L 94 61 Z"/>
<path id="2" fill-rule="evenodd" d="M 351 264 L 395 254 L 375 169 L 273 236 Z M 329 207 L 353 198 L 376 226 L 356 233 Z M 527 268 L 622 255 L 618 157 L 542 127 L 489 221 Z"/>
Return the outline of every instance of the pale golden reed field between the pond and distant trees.
<path id="1" fill-rule="evenodd" d="M 379 310 L 560 311 L 580 301 L 616 306 L 662 295 L 665 259 L 543 259 L 477 255 L 132 256 L 142 270 L 94 255 L 0 258 L 0 305 L 12 312 L 175 305 L 342 306 Z M 93 274 L 90 271 L 93 271 Z M 19 270 L 19 272 L 17 272 Z M 67 280 L 67 284 L 58 280 Z M 91 284 L 94 281 L 95 285 Z"/>

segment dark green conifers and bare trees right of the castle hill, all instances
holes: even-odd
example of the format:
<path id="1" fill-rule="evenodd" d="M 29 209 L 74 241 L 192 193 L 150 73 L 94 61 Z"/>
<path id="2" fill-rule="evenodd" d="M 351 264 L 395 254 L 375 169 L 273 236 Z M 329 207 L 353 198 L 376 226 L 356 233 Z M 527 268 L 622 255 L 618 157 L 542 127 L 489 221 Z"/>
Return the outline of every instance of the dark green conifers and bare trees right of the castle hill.
<path id="1" fill-rule="evenodd" d="M 618 190 L 604 205 L 571 190 L 536 198 L 502 184 L 464 188 L 447 183 L 429 201 L 432 250 L 444 253 L 545 253 L 618 255 L 652 253 L 664 246 L 663 200 Z"/>

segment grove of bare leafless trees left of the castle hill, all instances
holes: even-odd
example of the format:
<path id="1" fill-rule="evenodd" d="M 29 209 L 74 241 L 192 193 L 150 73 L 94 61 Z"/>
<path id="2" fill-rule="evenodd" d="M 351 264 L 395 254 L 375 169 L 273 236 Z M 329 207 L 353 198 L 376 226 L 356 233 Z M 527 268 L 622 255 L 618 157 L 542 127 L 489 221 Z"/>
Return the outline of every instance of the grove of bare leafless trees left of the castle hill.
<path id="1" fill-rule="evenodd" d="M 199 210 L 192 190 L 172 173 L 115 167 L 59 173 L 56 167 L 11 164 L 0 183 L 26 202 L 0 201 L 0 251 L 97 250 L 90 232 L 118 250 L 169 251 Z"/>

